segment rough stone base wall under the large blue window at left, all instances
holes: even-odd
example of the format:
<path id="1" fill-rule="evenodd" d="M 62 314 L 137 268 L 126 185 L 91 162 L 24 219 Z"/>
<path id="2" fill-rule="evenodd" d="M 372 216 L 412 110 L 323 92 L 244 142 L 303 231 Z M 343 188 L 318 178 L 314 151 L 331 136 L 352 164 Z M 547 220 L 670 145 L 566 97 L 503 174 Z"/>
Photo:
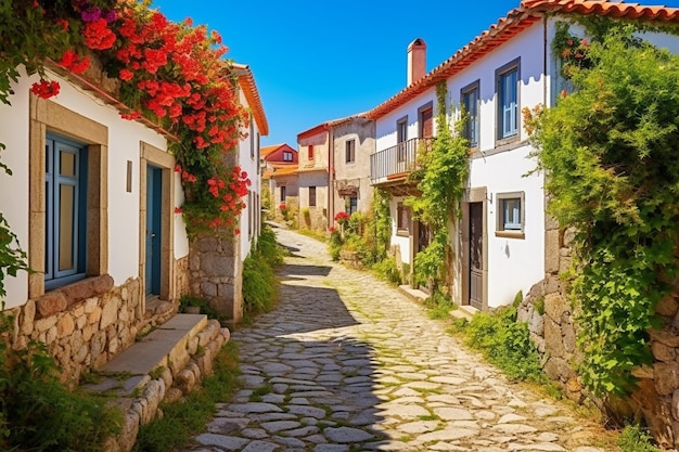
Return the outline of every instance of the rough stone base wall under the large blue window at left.
<path id="1" fill-rule="evenodd" d="M 189 258 L 175 264 L 179 296 L 189 290 Z M 31 340 L 46 344 L 62 369 L 62 380 L 77 383 L 82 372 L 101 367 L 144 328 L 177 312 L 178 300 L 146 304 L 141 292 L 139 279 L 114 287 L 107 274 L 50 290 L 8 310 L 14 318 L 12 346 L 21 349 Z"/>

